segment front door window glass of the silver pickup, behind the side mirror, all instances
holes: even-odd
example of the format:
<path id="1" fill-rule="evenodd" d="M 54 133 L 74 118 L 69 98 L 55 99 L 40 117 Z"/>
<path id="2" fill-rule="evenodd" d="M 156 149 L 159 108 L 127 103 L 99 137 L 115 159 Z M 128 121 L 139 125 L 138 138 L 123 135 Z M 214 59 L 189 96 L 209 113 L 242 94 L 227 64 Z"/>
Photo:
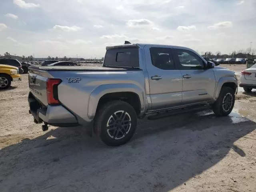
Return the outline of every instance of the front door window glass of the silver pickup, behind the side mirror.
<path id="1" fill-rule="evenodd" d="M 180 69 L 202 69 L 204 68 L 203 60 L 188 50 L 174 49 L 177 63 Z"/>

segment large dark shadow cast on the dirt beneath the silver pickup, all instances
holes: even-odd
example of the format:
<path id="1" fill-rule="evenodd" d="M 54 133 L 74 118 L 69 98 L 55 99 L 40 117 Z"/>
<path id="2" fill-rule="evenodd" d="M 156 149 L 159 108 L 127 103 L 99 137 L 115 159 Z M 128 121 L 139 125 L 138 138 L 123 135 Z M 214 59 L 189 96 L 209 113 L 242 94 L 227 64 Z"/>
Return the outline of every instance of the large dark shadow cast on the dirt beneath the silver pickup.
<path id="1" fill-rule="evenodd" d="M 38 127 L 39 129 L 40 127 Z M 56 128 L 0 150 L 1 191 L 167 192 L 222 160 L 256 124 L 211 112 L 140 120 L 132 140 L 107 147 L 84 128 Z"/>

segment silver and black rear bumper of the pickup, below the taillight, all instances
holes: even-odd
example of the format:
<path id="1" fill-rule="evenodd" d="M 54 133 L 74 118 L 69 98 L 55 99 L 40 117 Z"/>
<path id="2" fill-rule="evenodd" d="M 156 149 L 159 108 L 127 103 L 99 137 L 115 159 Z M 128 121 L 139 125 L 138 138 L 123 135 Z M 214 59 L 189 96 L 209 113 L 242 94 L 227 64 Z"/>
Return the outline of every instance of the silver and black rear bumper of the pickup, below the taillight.
<path id="1" fill-rule="evenodd" d="M 28 96 L 29 112 L 39 123 L 45 122 L 52 126 L 78 126 L 76 117 L 61 105 L 58 106 L 43 106 L 30 93 Z"/>

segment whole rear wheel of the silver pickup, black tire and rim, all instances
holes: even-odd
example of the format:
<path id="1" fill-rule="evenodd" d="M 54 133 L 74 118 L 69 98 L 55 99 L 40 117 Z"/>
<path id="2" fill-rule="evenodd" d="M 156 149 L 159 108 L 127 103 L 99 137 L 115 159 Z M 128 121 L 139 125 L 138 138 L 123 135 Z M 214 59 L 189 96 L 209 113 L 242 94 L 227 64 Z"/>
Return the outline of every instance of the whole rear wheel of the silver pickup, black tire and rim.
<path id="1" fill-rule="evenodd" d="M 104 104 L 96 114 L 94 129 L 100 140 L 108 146 L 127 143 L 137 127 L 134 108 L 123 101 Z"/>

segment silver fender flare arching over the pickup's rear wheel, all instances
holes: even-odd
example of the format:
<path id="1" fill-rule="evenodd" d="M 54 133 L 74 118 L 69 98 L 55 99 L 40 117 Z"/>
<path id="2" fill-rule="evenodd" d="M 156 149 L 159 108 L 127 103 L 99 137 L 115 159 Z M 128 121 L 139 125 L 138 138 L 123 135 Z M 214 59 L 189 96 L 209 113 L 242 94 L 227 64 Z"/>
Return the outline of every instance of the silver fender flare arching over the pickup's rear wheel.
<path id="1" fill-rule="evenodd" d="M 98 102 L 102 96 L 108 93 L 115 92 L 132 92 L 138 95 L 140 100 L 140 112 L 143 113 L 145 111 L 145 92 L 139 86 L 135 84 L 104 84 L 98 86 L 90 95 L 88 102 L 88 118 L 92 120 L 96 114 L 96 110 L 98 107 Z"/>

